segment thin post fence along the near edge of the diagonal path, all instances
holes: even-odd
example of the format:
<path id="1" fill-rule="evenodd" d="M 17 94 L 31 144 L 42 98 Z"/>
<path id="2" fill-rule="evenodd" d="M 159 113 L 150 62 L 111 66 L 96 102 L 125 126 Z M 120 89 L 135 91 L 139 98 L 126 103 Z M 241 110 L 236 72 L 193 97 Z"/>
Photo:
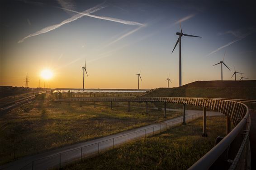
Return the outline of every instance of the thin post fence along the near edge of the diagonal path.
<path id="1" fill-rule="evenodd" d="M 202 112 L 186 116 L 187 121 L 197 119 L 203 115 Z M 157 124 L 147 129 L 138 130 L 132 133 L 120 135 L 115 138 L 109 138 L 104 141 L 95 142 L 84 147 L 75 148 L 66 152 L 61 152 L 52 156 L 43 157 L 33 160 L 20 170 L 44 170 L 49 168 L 62 168 L 73 161 L 82 161 L 82 159 L 99 155 L 109 149 L 126 145 L 127 142 L 136 142 L 138 139 L 147 138 L 157 133 L 161 133 L 174 126 L 182 124 L 183 118 L 167 121 Z"/>

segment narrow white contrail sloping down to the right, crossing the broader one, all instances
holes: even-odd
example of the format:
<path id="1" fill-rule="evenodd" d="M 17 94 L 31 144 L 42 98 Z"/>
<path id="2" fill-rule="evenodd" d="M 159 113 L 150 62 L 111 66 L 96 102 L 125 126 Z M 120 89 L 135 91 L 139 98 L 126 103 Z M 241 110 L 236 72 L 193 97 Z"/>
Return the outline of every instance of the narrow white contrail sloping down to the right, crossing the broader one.
<path id="1" fill-rule="evenodd" d="M 74 10 L 71 10 L 71 9 L 66 9 L 66 8 L 61 8 L 61 7 L 56 7 L 56 8 L 67 10 L 67 11 L 70 11 L 70 12 L 74 12 L 76 14 L 81 14 L 81 15 L 85 15 L 85 16 L 88 16 L 88 17 L 92 17 L 92 18 L 98 18 L 98 19 L 104 19 L 104 20 L 108 20 L 108 21 L 114 21 L 114 22 L 117 22 L 117 23 L 123 23 L 123 24 L 126 24 L 126 25 L 144 26 L 144 24 L 138 23 L 138 22 L 135 22 L 135 21 L 127 21 L 127 20 L 118 19 L 118 18 L 91 15 L 91 14 L 86 14 L 84 12 L 81 13 L 81 12 L 77 12 L 77 11 L 74 11 Z"/>

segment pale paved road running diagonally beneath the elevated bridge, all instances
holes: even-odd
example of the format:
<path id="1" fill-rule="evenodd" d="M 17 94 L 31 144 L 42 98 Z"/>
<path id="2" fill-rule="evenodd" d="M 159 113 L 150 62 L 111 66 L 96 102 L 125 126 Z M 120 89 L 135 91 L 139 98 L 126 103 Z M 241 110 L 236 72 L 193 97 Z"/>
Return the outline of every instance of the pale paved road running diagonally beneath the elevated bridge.
<path id="1" fill-rule="evenodd" d="M 195 116 L 195 114 L 198 116 Z M 186 122 L 196 119 L 197 117 L 202 116 L 202 114 L 203 111 L 201 110 L 186 110 Z M 209 111 L 207 112 L 207 115 L 212 116 L 222 114 Z M 153 133 L 158 133 L 165 130 L 166 127 L 169 128 L 171 126 L 180 125 L 182 123 L 182 119 L 182 116 L 174 119 L 166 119 L 160 123 L 123 131 L 104 138 L 73 144 L 38 155 L 25 156 L 17 161 L 1 165 L 0 170 L 32 170 L 32 167 L 33 170 L 46 170 L 53 167 L 62 167 L 72 161 L 80 160 L 81 158 L 88 156 L 94 156 L 99 152 L 104 152 L 108 149 L 112 149 L 113 147 L 118 147 L 118 145 L 125 144 L 125 142 L 135 141 L 139 138 L 152 135 Z"/>

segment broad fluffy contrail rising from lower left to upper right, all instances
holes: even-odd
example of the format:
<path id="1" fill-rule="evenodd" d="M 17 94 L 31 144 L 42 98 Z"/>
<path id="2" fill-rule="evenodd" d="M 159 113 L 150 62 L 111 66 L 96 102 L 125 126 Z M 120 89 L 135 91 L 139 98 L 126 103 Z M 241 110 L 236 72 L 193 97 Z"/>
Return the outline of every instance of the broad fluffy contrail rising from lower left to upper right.
<path id="1" fill-rule="evenodd" d="M 51 26 L 43 28 L 43 29 L 41 29 L 41 30 L 39 30 L 39 31 L 37 31 L 37 32 L 35 32 L 33 34 L 29 34 L 27 37 L 24 37 L 22 40 L 19 40 L 18 43 L 23 42 L 25 39 L 27 39 L 29 37 L 37 36 L 37 35 L 40 35 L 40 34 L 43 34 L 43 33 L 49 32 L 49 31 L 52 31 L 52 30 L 54 30 L 56 28 L 61 27 L 62 25 L 66 24 L 66 23 L 70 23 L 72 21 L 75 21 L 75 20 L 85 16 L 84 14 L 94 13 L 94 12 L 100 10 L 100 9 L 105 8 L 105 7 L 107 7 L 107 6 L 103 6 L 103 4 L 96 5 L 93 8 L 90 8 L 90 9 L 87 9 L 87 10 L 83 11 L 82 14 L 76 14 L 76 15 L 72 16 L 71 18 L 68 18 L 68 19 L 62 21 L 59 24 L 51 25 Z"/>

